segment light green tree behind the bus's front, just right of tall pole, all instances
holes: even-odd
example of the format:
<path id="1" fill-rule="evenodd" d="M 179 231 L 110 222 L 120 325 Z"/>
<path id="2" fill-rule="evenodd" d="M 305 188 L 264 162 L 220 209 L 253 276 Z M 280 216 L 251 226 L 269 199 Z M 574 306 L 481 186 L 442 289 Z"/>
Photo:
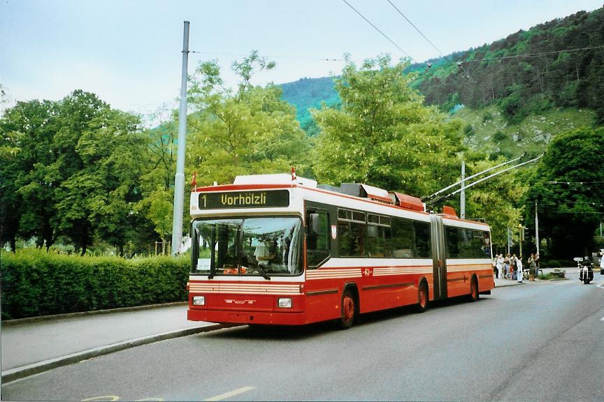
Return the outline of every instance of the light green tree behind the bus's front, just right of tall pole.
<path id="1" fill-rule="evenodd" d="M 196 112 L 187 141 L 189 175 L 199 184 L 230 182 L 237 174 L 299 172 L 308 170 L 309 145 L 295 119 L 295 109 L 281 100 L 281 89 L 254 86 L 252 76 L 274 63 L 252 52 L 234 62 L 240 82 L 236 90 L 224 88 L 216 61 L 200 64 L 192 78 L 189 99 Z"/>

